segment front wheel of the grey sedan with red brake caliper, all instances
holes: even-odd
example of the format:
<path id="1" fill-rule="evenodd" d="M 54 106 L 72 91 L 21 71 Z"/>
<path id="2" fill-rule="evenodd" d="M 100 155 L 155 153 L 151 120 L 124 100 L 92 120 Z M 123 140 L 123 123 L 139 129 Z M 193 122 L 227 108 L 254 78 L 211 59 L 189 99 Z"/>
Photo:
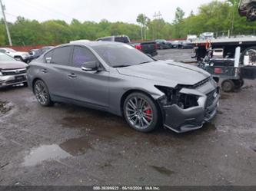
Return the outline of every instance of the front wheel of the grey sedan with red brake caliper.
<path id="1" fill-rule="evenodd" d="M 125 99 L 123 112 L 130 127 L 140 132 L 151 132 L 161 123 L 161 112 L 157 104 L 146 94 L 129 94 Z"/>

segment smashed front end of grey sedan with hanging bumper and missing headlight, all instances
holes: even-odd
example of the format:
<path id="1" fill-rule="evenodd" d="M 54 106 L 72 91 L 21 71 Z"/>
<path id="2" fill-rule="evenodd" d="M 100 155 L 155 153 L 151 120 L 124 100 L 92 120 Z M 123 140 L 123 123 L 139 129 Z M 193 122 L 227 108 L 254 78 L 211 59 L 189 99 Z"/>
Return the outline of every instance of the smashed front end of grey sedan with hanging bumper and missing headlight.
<path id="1" fill-rule="evenodd" d="M 164 126 L 177 133 L 197 130 L 217 114 L 219 88 L 209 77 L 194 86 L 159 87 Z"/>

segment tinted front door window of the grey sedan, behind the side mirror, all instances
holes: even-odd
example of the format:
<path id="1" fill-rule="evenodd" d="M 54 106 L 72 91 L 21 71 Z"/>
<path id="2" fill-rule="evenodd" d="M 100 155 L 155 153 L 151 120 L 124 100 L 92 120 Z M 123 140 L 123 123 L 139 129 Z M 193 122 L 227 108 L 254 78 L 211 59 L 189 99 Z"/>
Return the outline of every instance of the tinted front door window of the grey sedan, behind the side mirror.
<path id="1" fill-rule="evenodd" d="M 81 65 L 88 61 L 98 61 L 88 48 L 75 46 L 73 53 L 73 65 L 81 68 Z"/>

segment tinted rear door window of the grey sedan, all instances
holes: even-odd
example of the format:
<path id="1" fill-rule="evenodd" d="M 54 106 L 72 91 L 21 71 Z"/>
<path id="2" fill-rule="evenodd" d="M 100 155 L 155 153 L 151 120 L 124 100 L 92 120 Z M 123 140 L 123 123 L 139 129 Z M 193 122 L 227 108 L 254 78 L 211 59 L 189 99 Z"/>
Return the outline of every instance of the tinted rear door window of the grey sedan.
<path id="1" fill-rule="evenodd" d="M 55 48 L 52 54 L 52 64 L 71 65 L 69 62 L 72 46 Z"/>

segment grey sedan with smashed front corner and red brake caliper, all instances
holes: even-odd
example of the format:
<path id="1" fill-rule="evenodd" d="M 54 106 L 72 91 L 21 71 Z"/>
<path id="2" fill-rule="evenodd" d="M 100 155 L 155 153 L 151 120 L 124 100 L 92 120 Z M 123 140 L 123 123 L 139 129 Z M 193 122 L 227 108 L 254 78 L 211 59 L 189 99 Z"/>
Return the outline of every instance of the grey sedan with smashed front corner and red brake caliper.
<path id="1" fill-rule="evenodd" d="M 106 41 L 53 48 L 30 64 L 28 84 L 42 106 L 68 102 L 105 110 L 141 132 L 201 128 L 217 113 L 219 99 L 208 72 Z"/>

